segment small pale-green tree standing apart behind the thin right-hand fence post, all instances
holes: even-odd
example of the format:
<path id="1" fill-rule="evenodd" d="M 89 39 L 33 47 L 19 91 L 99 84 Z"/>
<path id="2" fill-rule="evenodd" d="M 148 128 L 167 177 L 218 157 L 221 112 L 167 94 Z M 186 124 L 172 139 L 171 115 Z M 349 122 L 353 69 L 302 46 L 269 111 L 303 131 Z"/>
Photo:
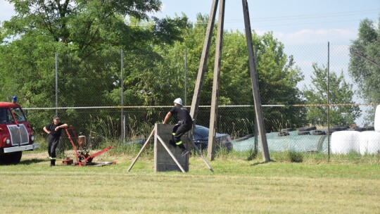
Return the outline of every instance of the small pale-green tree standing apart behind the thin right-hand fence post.
<path id="1" fill-rule="evenodd" d="M 327 103 L 327 68 L 319 68 L 317 64 L 313 64 L 314 73 L 312 75 L 312 86 L 306 87 L 304 96 L 308 104 Z M 329 103 L 330 107 L 330 123 L 332 125 L 352 125 L 355 119 L 359 118 L 361 111 L 359 106 L 345 106 L 334 104 L 355 103 L 353 101 L 353 85 L 346 82 L 341 75 L 331 72 L 329 76 Z M 327 126 L 327 107 L 315 106 L 308 108 L 307 120 L 312 125 Z"/>

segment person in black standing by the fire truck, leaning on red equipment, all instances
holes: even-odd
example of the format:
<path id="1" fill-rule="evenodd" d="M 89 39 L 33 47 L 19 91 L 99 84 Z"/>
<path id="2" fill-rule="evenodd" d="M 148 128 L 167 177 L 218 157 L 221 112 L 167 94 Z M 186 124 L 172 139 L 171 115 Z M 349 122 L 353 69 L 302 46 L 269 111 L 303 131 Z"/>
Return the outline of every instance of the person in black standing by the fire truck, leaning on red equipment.
<path id="1" fill-rule="evenodd" d="M 60 122 L 58 116 L 53 118 L 53 123 L 49 123 L 44 127 L 44 132 L 49 134 L 48 153 L 50 158 L 50 166 L 56 165 L 56 149 L 61 137 L 62 129 L 68 127 L 67 124 Z"/>

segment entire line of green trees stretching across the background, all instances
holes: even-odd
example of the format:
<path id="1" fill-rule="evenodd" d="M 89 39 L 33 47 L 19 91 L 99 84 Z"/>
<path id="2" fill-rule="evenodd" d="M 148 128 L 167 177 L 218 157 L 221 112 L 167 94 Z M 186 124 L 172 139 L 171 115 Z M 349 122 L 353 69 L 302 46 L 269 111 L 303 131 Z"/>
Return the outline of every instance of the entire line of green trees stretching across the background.
<path id="1" fill-rule="evenodd" d="M 208 15 L 198 14 L 196 24 L 183 13 L 174 18 L 149 17 L 148 13 L 160 11 L 158 0 L 12 2 L 16 15 L 0 27 L 1 101 L 17 94 L 25 107 L 54 107 L 55 53 L 58 53 L 58 106 L 118 106 L 120 50 L 123 50 L 125 106 L 171 105 L 177 97 L 184 99 L 184 49 L 187 50 L 186 99 L 191 101 Z M 379 27 L 373 25 L 363 20 L 359 37 L 352 44 L 365 49 L 370 56 L 380 53 Z M 216 29 L 217 26 L 213 30 Z M 201 105 L 209 105 L 211 101 L 215 34 Z M 293 56 L 284 52 L 284 44 L 272 32 L 262 35 L 253 32 L 253 44 L 263 105 L 327 103 L 326 67 L 314 64 L 312 85 L 299 89 L 297 84 L 304 80 L 303 71 Z M 365 75 L 367 66 L 371 65 L 351 58 L 350 73 L 361 82 L 360 88 L 369 101 L 379 101 L 379 95 L 370 90 L 377 79 Z M 373 76 L 379 73 L 379 68 L 371 70 Z M 242 32 L 224 32 L 221 72 L 219 105 L 253 104 L 246 39 Z M 330 103 L 354 103 L 352 84 L 346 82 L 342 73 L 331 73 L 330 89 Z M 357 106 L 338 106 L 331 111 L 336 125 L 352 124 L 361 115 Z M 323 126 L 327 125 L 326 112 L 320 106 L 268 108 L 264 112 L 265 127 L 271 132 L 286 126 Z M 64 113 L 80 116 L 75 110 Z M 100 117 L 109 116 L 105 114 L 101 110 L 97 113 Z M 51 113 L 30 117 L 37 126 L 42 126 Z M 234 117 L 227 115 L 224 120 L 233 122 Z M 274 118 L 281 118 L 281 124 L 276 125 Z M 115 120 L 118 119 L 115 115 Z"/>

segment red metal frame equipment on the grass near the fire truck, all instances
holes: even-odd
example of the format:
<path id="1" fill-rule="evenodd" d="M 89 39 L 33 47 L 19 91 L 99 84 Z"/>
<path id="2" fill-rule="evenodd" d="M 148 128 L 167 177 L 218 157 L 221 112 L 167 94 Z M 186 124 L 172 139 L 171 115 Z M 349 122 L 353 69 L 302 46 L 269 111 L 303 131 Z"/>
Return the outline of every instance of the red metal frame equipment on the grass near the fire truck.
<path id="1" fill-rule="evenodd" d="M 77 133 L 74 131 L 74 129 L 72 128 L 72 126 L 66 127 L 65 128 L 65 132 L 68 135 L 68 139 L 70 140 L 72 148 L 75 151 L 75 158 L 77 159 L 77 165 L 80 165 L 80 166 L 87 165 L 87 162 L 91 162 L 91 160 L 94 157 L 99 156 L 102 153 L 105 153 L 106 151 L 109 151 L 110 149 L 115 148 L 115 146 L 108 146 L 106 149 L 102 149 L 101 151 L 98 151 L 96 153 L 93 153 L 91 156 L 87 156 L 86 157 L 86 156 L 78 153 L 77 146 L 75 146 L 75 142 L 76 142 L 77 145 L 79 145 L 79 143 L 78 143 L 78 137 L 77 137 Z M 70 134 L 70 132 L 72 134 Z M 73 137 L 71 135 L 73 135 Z M 82 158 L 82 161 L 80 160 L 81 159 L 80 157 Z M 116 162 L 114 161 L 112 164 L 115 164 L 115 163 Z"/>

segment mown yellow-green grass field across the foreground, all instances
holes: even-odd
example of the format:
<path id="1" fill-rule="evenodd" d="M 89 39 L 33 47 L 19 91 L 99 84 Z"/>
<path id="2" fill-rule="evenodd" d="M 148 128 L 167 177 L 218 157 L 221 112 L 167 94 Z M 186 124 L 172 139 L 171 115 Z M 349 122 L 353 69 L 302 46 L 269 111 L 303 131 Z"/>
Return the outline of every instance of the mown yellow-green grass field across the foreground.
<path id="1" fill-rule="evenodd" d="M 153 172 L 153 158 L 116 165 L 0 165 L 0 213 L 380 213 L 379 158 L 262 163 L 197 156 L 189 172 Z M 277 158 L 279 159 L 279 158 Z M 59 163 L 59 161 L 58 161 Z"/>

